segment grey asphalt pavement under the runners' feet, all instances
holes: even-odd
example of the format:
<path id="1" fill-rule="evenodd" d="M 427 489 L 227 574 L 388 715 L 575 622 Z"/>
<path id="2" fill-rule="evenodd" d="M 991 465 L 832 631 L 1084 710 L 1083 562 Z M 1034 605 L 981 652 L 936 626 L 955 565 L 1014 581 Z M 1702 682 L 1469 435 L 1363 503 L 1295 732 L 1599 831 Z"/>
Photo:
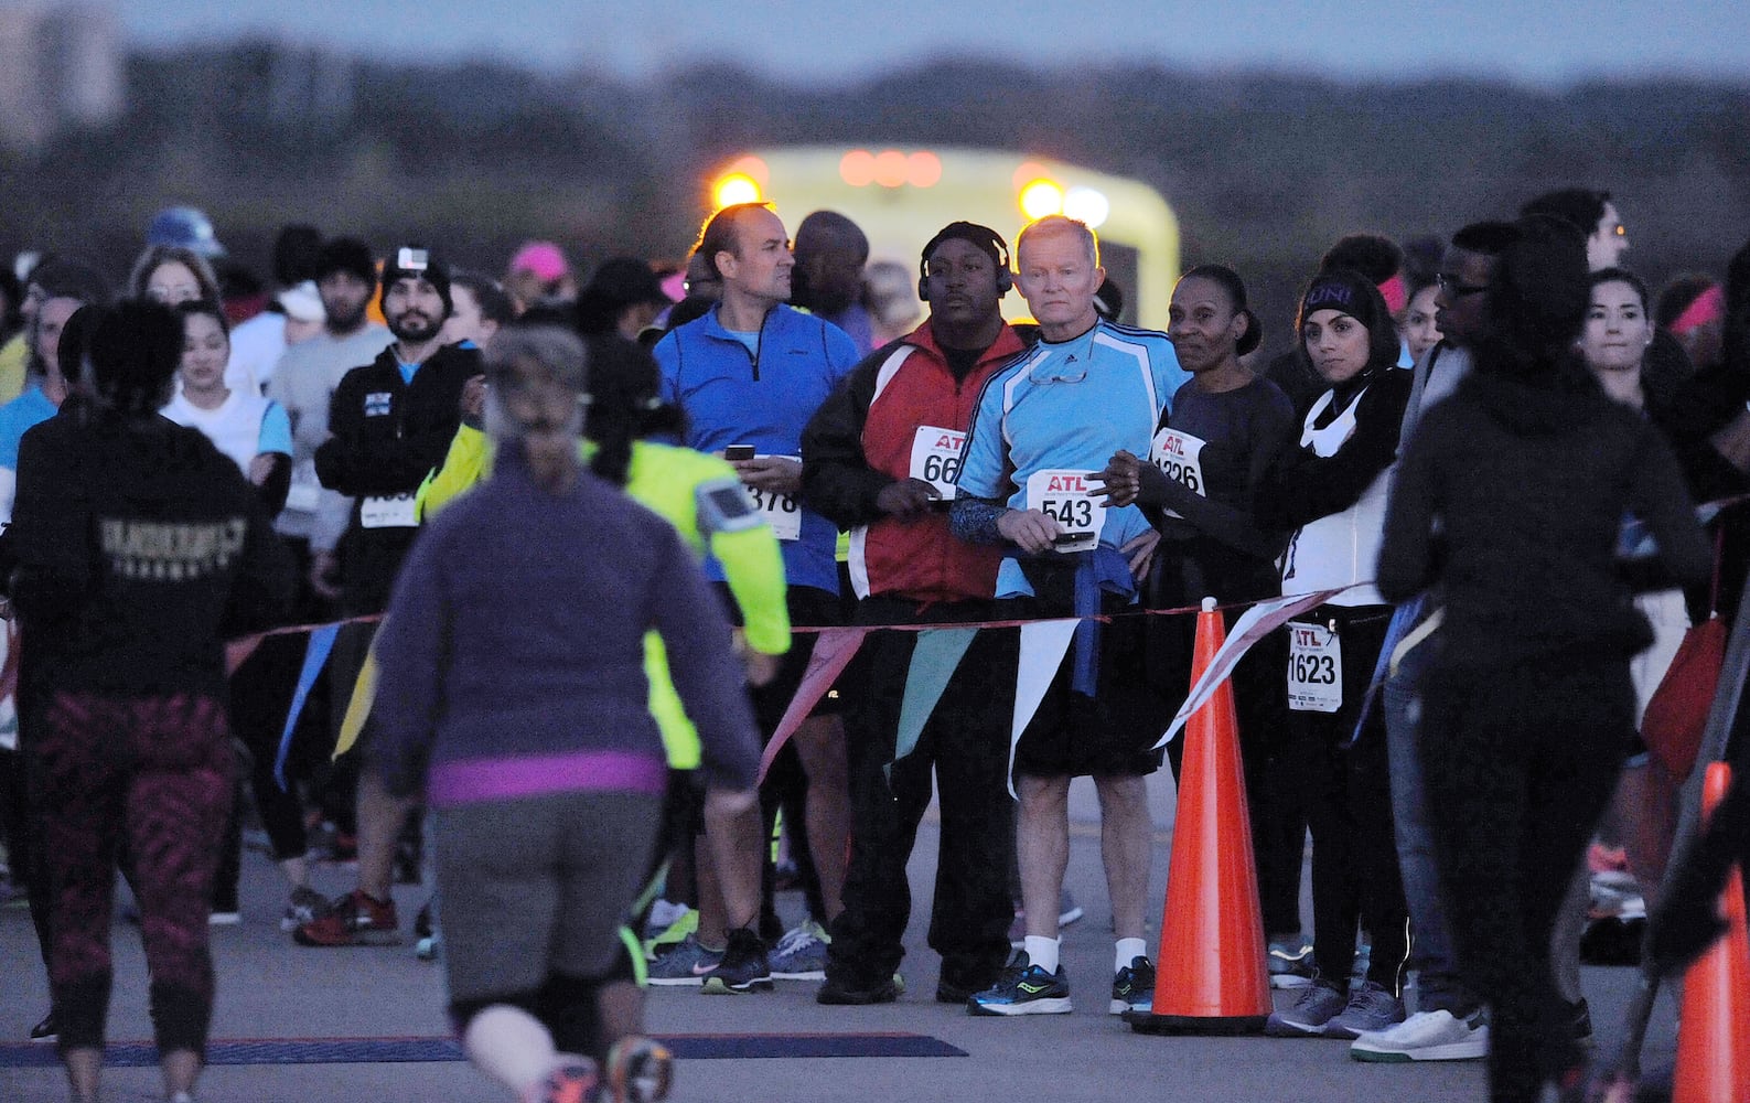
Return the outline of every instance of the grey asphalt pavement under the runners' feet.
<path id="1" fill-rule="evenodd" d="M 1152 900 L 1166 891 L 1171 840 L 1171 777 L 1152 784 L 1158 825 Z M 817 982 L 779 980 L 772 994 L 704 996 L 698 989 L 653 989 L 651 1033 L 674 1036 L 682 1052 L 730 1052 L 682 1059 L 674 1098 L 710 1103 L 796 1101 L 1032 1101 L 1111 1103 L 1116 1099 L 1290 1103 L 1372 1099 L 1484 1099 L 1480 1063 L 1360 1064 L 1348 1045 L 1325 1040 L 1162 1038 L 1132 1033 L 1106 1014 L 1111 982 L 1111 912 L 1099 863 L 1097 805 L 1078 783 L 1071 800 L 1069 888 L 1087 916 L 1064 931 L 1064 966 L 1074 1012 L 1024 1019 L 971 1017 L 962 1007 L 933 1001 L 940 961 L 924 945 L 929 886 L 934 881 L 934 823 L 919 833 L 912 860 L 914 917 L 901 966 L 906 994 L 884 1007 L 821 1007 Z M 317 867 L 317 888 L 340 893 L 350 874 Z M 396 889 L 404 926 L 425 896 Z M 780 896 L 788 917 L 798 895 Z M 455 1101 L 488 1103 L 504 1096 L 471 1066 L 448 1059 L 443 1014 L 443 966 L 418 961 L 411 935 L 404 947 L 304 949 L 278 928 L 284 889 L 266 856 L 245 854 L 242 926 L 217 928 L 214 949 L 219 1000 L 214 1040 L 341 1040 L 324 1063 L 280 1063 L 299 1047 L 262 1045 L 245 1064 L 208 1068 L 200 1099 L 248 1103 Z M 1311 909 L 1306 909 L 1311 916 Z M 150 1038 L 145 1010 L 145 961 L 138 930 L 117 921 L 112 1042 Z M 49 1047 L 23 1043 L 47 1008 L 37 949 L 23 909 L 0 909 L 0 1101 L 65 1099 Z M 1586 970 L 1601 1052 L 1614 1052 L 1633 970 Z M 1278 993 L 1278 1001 L 1286 993 Z M 1648 1033 L 1647 1061 L 1670 1061 L 1675 1049 L 1671 1005 L 1661 1000 Z M 898 1036 L 894 1036 L 898 1035 Z M 424 1043 L 371 1043 L 415 1038 Z M 215 1047 L 217 1049 L 217 1047 Z M 310 1047 L 301 1047 L 308 1057 Z M 28 1052 L 35 1050 L 35 1052 Z M 850 1052 L 919 1056 L 796 1056 Z M 234 1047 L 231 1052 L 238 1052 Z M 360 1061 L 360 1054 L 374 1059 Z M 760 1054 L 760 1056 L 754 1056 Z M 948 1056 L 924 1056 L 948 1054 Z M 959 1056 L 964 1054 L 964 1056 Z M 385 1061 L 385 1056 L 411 1057 Z M 161 1099 L 150 1066 L 105 1073 L 112 1101 Z"/>

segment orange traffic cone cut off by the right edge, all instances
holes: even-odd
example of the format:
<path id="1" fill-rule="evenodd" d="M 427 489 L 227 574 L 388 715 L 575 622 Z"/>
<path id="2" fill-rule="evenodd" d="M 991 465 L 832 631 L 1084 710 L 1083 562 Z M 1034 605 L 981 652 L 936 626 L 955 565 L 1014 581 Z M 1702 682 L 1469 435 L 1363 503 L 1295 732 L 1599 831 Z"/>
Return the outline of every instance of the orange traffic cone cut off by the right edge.
<path id="1" fill-rule="evenodd" d="M 1701 807 L 1726 797 L 1732 770 L 1708 767 Z M 1676 1031 L 1676 1080 L 1671 1103 L 1741 1103 L 1750 1099 L 1750 937 L 1745 935 L 1743 875 L 1726 879 L 1726 937 L 1684 975 L 1684 1019 Z"/>

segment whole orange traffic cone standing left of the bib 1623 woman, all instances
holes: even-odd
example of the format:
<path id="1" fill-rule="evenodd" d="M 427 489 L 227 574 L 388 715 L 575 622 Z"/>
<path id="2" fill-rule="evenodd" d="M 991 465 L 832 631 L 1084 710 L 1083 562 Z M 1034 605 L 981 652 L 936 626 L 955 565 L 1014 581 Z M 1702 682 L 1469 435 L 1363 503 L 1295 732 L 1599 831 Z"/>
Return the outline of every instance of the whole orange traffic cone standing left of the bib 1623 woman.
<path id="1" fill-rule="evenodd" d="M 1225 639 L 1214 599 L 1206 597 L 1197 615 L 1192 685 Z M 1155 1003 L 1150 1010 L 1125 1012 L 1124 1019 L 1146 1035 L 1237 1035 L 1264 1029 L 1270 1010 L 1234 686 L 1222 683 L 1185 725 Z"/>

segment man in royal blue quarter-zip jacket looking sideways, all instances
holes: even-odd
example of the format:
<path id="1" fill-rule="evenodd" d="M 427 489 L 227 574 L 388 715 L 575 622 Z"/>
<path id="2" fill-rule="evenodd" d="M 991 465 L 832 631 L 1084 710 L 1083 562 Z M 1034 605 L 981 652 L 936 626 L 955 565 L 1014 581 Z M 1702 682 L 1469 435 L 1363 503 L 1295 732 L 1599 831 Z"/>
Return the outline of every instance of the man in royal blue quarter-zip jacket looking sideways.
<path id="1" fill-rule="evenodd" d="M 765 513 L 784 553 L 791 625 L 838 620 L 838 529 L 802 501 L 802 431 L 858 362 L 856 345 L 836 326 L 788 306 L 791 256 L 784 222 L 763 203 L 724 207 L 705 224 L 696 254 L 723 282 L 723 299 L 654 348 L 663 397 L 688 420 L 684 445 L 724 455 Z M 723 569 L 707 562 L 714 583 Z M 814 634 L 794 637 L 772 683 L 754 690 L 760 728 L 772 735 L 807 669 Z M 690 959 L 658 961 L 656 973 L 684 972 L 705 991 L 752 991 L 772 975 L 824 975 L 824 930 L 842 910 L 849 795 L 844 728 L 836 716 L 816 714 L 794 734 L 808 777 L 807 839 L 816 856 L 824 916 L 791 931 L 774 961 L 752 928 L 758 917 L 761 828 L 758 814 L 707 819 L 710 847 L 732 870 L 723 877 L 723 910 L 700 893 L 698 944 L 682 944 Z M 702 868 L 707 863 L 700 863 Z M 710 947 L 723 931 L 724 949 Z M 714 968 L 712 968 L 714 966 Z M 670 982 L 688 975 L 665 975 Z"/>

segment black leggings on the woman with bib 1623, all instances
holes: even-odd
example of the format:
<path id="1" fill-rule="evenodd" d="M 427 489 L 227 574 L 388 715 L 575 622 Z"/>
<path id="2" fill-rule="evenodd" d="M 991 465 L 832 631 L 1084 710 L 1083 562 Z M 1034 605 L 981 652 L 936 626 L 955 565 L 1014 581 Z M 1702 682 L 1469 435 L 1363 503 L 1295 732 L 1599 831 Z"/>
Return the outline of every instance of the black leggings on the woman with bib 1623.
<path id="1" fill-rule="evenodd" d="M 1335 713 L 1290 711 L 1307 826 L 1312 828 L 1312 956 L 1320 975 L 1346 984 L 1354 966 L 1356 923 L 1374 940 L 1367 979 L 1402 994 L 1409 959 L 1409 910 L 1391 830 L 1391 772 L 1382 711 L 1349 746 L 1391 622 L 1390 606 L 1321 606 L 1295 625 L 1337 625 L 1342 706 Z M 1290 625 L 1293 629 L 1295 625 Z"/>

